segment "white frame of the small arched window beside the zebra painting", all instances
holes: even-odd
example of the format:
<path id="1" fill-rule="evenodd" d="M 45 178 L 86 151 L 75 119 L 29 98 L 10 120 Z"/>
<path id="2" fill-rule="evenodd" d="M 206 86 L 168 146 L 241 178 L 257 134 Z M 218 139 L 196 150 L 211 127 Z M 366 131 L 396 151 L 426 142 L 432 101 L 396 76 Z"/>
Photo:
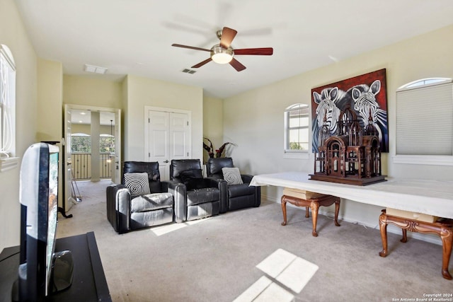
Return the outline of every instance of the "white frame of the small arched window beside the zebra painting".
<path id="1" fill-rule="evenodd" d="M 289 119 L 290 112 L 305 110 L 303 117 L 306 117 L 306 126 L 290 127 Z M 310 107 L 309 105 L 303 103 L 296 103 L 288 106 L 284 112 L 284 143 L 283 143 L 283 157 L 284 158 L 309 158 L 309 149 L 310 149 Z M 307 149 L 289 149 L 289 132 L 294 129 L 303 130 L 306 129 L 306 135 L 308 141 Z"/>

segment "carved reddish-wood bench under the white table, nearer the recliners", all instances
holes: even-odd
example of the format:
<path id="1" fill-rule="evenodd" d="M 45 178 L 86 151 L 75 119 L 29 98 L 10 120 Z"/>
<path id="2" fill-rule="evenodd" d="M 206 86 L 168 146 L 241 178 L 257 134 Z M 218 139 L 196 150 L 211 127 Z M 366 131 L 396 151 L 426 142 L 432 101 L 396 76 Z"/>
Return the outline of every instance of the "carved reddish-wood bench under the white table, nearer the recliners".
<path id="1" fill-rule="evenodd" d="M 316 223 L 318 221 L 318 210 L 320 206 L 328 207 L 331 204 L 335 203 L 335 225 L 340 226 L 338 223 L 338 212 L 340 211 L 340 198 L 331 196 L 331 195 L 323 195 L 321 197 L 314 197 L 314 198 L 297 198 L 293 196 L 283 195 L 282 196 L 282 212 L 283 212 L 283 222 L 282 226 L 286 226 L 286 203 L 289 202 L 290 204 L 294 204 L 296 207 L 305 207 L 305 217 L 309 217 L 309 207 L 311 208 L 311 221 L 313 223 L 313 231 L 311 235 L 314 237 L 318 236 L 316 232 Z"/>

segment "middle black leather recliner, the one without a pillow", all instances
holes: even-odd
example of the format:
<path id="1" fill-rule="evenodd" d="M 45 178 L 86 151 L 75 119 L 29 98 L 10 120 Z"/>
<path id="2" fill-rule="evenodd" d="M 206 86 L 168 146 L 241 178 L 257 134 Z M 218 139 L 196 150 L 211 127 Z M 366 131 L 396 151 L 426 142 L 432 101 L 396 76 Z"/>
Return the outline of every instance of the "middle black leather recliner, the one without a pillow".
<path id="1" fill-rule="evenodd" d="M 222 204 L 226 202 L 226 183 L 222 189 L 222 184 L 216 180 L 203 178 L 198 159 L 173 159 L 170 165 L 170 179 L 185 185 L 186 221 L 217 215 Z"/>

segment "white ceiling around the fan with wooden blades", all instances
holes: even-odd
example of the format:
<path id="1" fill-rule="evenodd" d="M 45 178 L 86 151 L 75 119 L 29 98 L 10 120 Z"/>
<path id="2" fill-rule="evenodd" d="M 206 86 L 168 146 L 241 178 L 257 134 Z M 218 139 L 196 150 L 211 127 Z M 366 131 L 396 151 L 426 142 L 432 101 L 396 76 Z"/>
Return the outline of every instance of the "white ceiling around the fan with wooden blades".
<path id="1" fill-rule="evenodd" d="M 198 86 L 226 98 L 453 23 L 452 0 L 16 0 L 38 57 L 64 74 L 120 80 L 126 74 Z M 231 46 L 273 47 L 236 56 L 247 69 L 210 62 L 223 26 Z M 452 37 L 453 38 L 453 37 Z M 84 64 L 108 69 L 88 74 Z"/>

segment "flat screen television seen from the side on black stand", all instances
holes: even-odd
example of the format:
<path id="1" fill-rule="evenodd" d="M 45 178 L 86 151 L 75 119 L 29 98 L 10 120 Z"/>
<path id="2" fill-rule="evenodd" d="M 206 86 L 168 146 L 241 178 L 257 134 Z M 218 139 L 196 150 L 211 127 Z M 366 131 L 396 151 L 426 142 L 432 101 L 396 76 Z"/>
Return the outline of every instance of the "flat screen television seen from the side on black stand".
<path id="1" fill-rule="evenodd" d="M 55 253 L 58 218 L 58 146 L 28 147 L 21 163 L 21 255 L 13 301 L 45 301 L 71 285 L 71 252 Z"/>

